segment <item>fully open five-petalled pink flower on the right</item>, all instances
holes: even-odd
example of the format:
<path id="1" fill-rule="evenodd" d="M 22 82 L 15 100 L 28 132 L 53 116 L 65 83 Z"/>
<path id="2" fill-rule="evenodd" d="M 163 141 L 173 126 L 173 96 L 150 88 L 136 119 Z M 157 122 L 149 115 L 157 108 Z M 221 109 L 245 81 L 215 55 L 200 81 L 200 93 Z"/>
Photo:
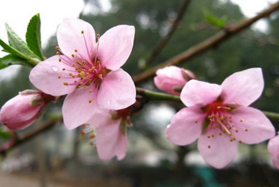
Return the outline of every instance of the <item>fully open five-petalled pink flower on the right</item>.
<path id="1" fill-rule="evenodd" d="M 182 90 L 187 106 L 166 129 L 167 138 L 187 145 L 198 138 L 198 150 L 215 168 L 228 165 L 237 153 L 237 143 L 256 144 L 275 135 L 268 118 L 248 107 L 261 94 L 264 80 L 261 68 L 236 72 L 221 85 L 191 80 Z"/>

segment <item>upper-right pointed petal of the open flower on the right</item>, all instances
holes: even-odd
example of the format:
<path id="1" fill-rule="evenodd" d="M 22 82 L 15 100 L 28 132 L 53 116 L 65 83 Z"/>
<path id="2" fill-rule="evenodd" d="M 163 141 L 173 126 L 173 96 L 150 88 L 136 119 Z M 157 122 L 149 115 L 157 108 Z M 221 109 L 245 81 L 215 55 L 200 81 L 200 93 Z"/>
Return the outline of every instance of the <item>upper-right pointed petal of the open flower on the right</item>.
<path id="1" fill-rule="evenodd" d="M 250 68 L 233 73 L 224 80 L 221 86 L 224 103 L 248 106 L 263 92 L 262 69 Z"/>

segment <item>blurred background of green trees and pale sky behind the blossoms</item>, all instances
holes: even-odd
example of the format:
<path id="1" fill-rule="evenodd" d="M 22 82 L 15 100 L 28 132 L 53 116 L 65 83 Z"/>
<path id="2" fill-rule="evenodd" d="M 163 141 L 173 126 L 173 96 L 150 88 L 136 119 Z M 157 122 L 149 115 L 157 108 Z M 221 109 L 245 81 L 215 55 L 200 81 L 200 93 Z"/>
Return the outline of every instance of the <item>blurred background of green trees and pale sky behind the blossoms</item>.
<path id="1" fill-rule="evenodd" d="M 184 0 L 3 0 L 0 2 L 0 38 L 7 41 L 4 22 L 25 38 L 29 19 L 42 18 L 44 55 L 53 56 L 55 31 L 65 17 L 91 23 L 96 33 L 120 24 L 136 27 L 132 55 L 124 65 L 131 75 L 148 69 L 149 52 L 164 37 Z M 191 0 L 183 20 L 155 65 L 203 41 L 221 28 L 255 16 L 276 0 Z M 4 56 L 0 52 L 0 57 Z M 233 36 L 187 63 L 199 80 L 217 84 L 235 71 L 261 67 L 265 90 L 253 106 L 279 112 L 279 11 L 261 19 L 250 29 Z M 30 68 L 13 65 L 0 70 L 0 106 L 18 92 L 34 88 Z M 152 79 L 139 85 L 156 90 Z M 62 101 L 49 104 L 44 117 L 19 134 L 61 115 Z M 125 159 L 100 160 L 81 129 L 68 131 L 63 124 L 28 141 L 1 157 L 0 187 L 275 187 L 277 171 L 267 152 L 267 142 L 239 145 L 233 162 L 222 170 L 209 167 L 193 143 L 179 147 L 166 140 L 164 131 L 182 108 L 174 102 L 149 102 L 132 118 L 128 129 L 129 147 Z M 273 122 L 277 130 L 279 123 Z M 2 130 L 5 130 L 1 125 Z M 0 143 L 6 141 L 0 137 Z M 218 153 L 217 153 L 218 154 Z"/>

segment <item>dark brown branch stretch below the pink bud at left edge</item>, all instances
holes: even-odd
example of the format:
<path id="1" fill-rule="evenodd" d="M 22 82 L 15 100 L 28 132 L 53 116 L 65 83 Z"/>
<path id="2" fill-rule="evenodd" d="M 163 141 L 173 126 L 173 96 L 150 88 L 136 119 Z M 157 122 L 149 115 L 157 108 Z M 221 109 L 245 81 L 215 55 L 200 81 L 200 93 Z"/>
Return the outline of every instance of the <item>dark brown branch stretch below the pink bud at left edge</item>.
<path id="1" fill-rule="evenodd" d="M 15 136 L 13 137 L 12 140 L 8 140 L 7 142 L 5 142 L 2 147 L 0 148 L 0 155 L 6 155 L 7 152 L 19 145 L 21 145 L 22 143 L 25 143 L 31 139 L 33 139 L 34 137 L 36 137 L 37 135 L 49 130 L 52 126 L 54 126 L 55 124 L 61 122 L 62 119 L 56 119 L 56 120 L 49 120 L 45 123 L 43 123 L 43 125 L 41 125 L 39 128 L 32 130 L 30 132 L 27 132 L 24 135 L 21 136 Z"/>

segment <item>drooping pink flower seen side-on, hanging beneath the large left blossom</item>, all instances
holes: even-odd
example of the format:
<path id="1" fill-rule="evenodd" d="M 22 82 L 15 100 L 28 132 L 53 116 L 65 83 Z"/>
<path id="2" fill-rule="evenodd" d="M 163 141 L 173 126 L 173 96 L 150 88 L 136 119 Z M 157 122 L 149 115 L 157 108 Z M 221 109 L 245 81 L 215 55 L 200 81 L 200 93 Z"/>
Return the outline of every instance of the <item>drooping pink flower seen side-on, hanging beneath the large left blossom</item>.
<path id="1" fill-rule="evenodd" d="M 89 125 L 82 131 L 93 131 L 98 156 L 108 160 L 117 156 L 118 160 L 126 156 L 128 137 L 126 126 L 131 126 L 130 108 L 122 110 L 99 110 L 88 121 Z"/>

